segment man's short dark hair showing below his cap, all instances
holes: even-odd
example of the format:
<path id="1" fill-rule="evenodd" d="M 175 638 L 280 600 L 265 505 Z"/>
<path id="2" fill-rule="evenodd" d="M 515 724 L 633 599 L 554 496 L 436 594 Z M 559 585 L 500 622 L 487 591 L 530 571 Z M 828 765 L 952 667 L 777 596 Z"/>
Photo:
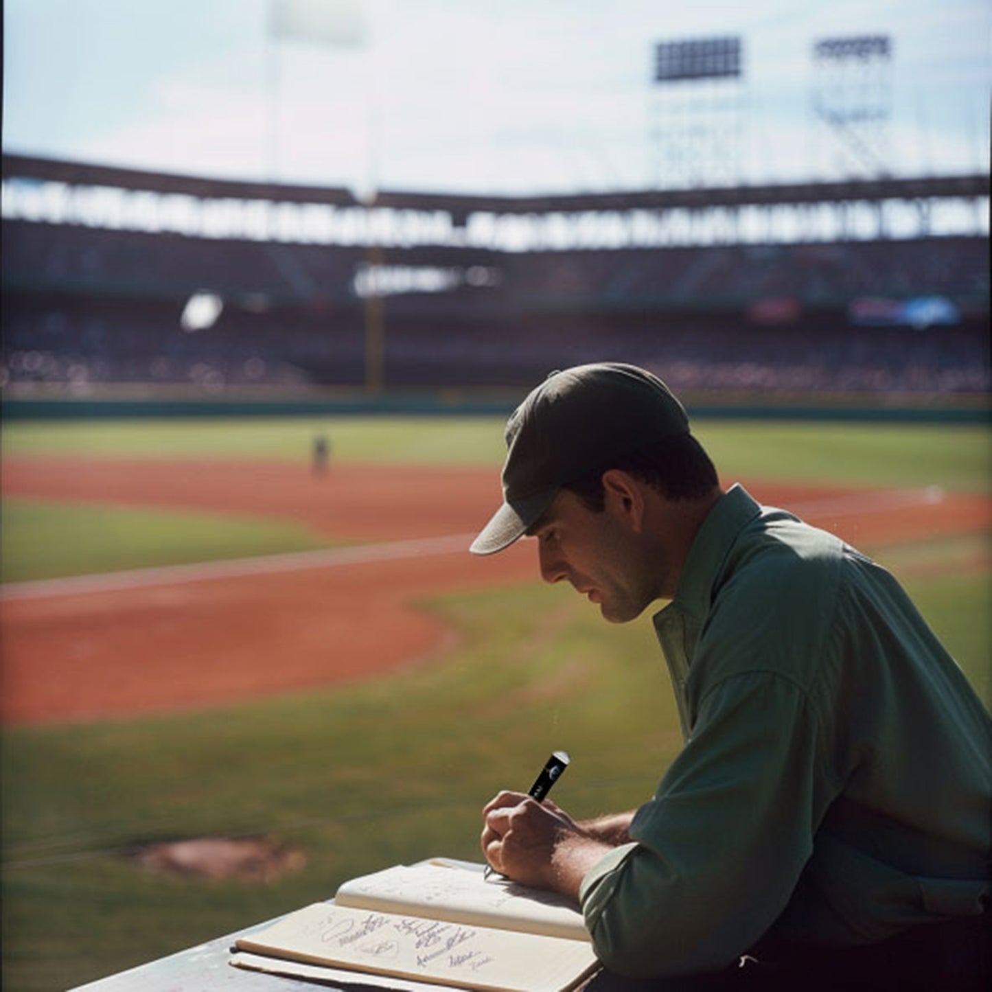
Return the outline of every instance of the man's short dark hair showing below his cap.
<path id="1" fill-rule="evenodd" d="M 562 488 L 573 492 L 587 509 L 602 513 L 606 506 L 603 472 L 610 468 L 633 475 L 671 500 L 702 499 L 718 485 L 716 468 L 702 445 L 691 434 L 677 434 L 617 456 L 608 465 L 566 482 Z"/>

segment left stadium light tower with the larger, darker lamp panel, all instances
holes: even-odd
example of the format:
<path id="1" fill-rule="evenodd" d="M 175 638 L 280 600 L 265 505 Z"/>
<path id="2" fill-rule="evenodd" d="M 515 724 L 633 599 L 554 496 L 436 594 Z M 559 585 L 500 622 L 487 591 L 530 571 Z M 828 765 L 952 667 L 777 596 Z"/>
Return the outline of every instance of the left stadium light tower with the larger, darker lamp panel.
<path id="1" fill-rule="evenodd" d="M 656 44 L 651 123 L 656 186 L 740 182 L 743 79 L 740 38 Z"/>

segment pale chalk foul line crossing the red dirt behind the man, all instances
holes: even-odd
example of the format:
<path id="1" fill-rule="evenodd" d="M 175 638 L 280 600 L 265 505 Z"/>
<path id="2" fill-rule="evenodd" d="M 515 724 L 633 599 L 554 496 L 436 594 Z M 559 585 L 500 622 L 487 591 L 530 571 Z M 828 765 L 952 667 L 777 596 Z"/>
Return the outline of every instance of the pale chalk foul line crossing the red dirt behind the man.
<path id="1" fill-rule="evenodd" d="M 944 499 L 939 486 L 925 489 L 886 489 L 878 492 L 849 493 L 825 499 L 800 500 L 788 509 L 805 519 L 853 517 L 863 513 L 880 513 L 904 507 L 932 506 Z M 71 575 L 28 582 L 9 582 L 0 587 L 0 600 L 40 599 L 48 596 L 76 596 L 92 592 L 119 592 L 142 586 L 175 585 L 217 578 L 240 578 L 245 575 L 269 575 L 302 571 L 308 568 L 334 568 L 374 561 L 398 561 L 403 558 L 431 558 L 436 555 L 467 555 L 474 534 L 452 534 L 437 538 L 387 541 L 351 548 L 332 548 L 286 555 L 256 558 L 228 558 L 223 561 L 200 561 L 193 564 L 160 565 L 130 568 L 99 575 Z"/>

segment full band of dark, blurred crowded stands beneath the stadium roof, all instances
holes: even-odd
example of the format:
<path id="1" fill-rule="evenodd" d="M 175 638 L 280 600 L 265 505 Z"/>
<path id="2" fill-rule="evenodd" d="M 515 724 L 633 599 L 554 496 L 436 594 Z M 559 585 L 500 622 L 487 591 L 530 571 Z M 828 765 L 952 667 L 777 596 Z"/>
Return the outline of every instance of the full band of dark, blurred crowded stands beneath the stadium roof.
<path id="1" fill-rule="evenodd" d="M 359 385 L 368 301 L 360 246 L 216 241 L 4 224 L 0 385 Z M 445 292 L 383 302 L 385 372 L 404 387 L 532 385 L 554 368 L 626 360 L 677 389 L 987 393 L 987 243 L 969 237 L 807 245 L 479 253 L 391 250 Z M 223 303 L 184 330 L 190 295 Z M 939 295 L 960 319 L 855 326 L 860 297 Z M 786 301 L 756 317 L 754 304 Z M 768 313 L 772 316 L 769 317 Z"/>

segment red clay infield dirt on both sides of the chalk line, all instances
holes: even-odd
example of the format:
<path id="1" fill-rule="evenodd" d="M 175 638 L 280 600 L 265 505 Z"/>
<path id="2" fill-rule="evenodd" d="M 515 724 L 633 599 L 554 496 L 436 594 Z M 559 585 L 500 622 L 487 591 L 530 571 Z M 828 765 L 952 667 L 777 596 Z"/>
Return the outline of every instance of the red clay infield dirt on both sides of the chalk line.
<path id="1" fill-rule="evenodd" d="M 256 461 L 10 458 L 3 495 L 291 519 L 324 538 L 471 534 L 499 502 L 491 470 Z M 748 486 L 862 547 L 992 528 L 984 496 Z M 467 545 L 467 541 L 466 541 Z M 0 599 L 4 722 L 129 716 L 368 678 L 437 657 L 453 634 L 417 601 L 537 577 L 529 542 L 491 558 L 415 558 L 113 591 Z M 25 590 L 22 590 L 22 592 Z"/>

